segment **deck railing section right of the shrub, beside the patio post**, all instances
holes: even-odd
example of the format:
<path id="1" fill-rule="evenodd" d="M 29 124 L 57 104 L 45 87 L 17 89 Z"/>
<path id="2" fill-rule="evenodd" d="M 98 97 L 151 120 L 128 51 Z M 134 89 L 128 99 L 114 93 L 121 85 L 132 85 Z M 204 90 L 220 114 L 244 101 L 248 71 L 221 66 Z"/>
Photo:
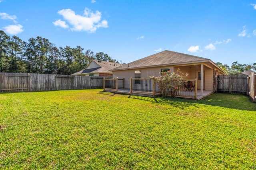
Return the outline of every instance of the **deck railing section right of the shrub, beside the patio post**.
<path id="1" fill-rule="evenodd" d="M 197 78 L 184 80 L 183 84 L 178 87 L 177 96 L 196 98 L 197 97 Z"/>

